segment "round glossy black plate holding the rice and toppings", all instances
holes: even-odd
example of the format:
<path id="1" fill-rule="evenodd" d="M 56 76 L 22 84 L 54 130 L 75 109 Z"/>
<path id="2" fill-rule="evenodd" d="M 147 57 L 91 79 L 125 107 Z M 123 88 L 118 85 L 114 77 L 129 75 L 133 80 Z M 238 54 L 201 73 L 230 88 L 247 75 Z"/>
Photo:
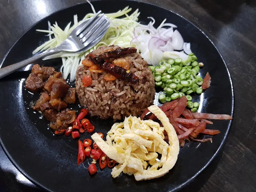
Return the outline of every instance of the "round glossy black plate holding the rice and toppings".
<path id="1" fill-rule="evenodd" d="M 190 42 L 192 51 L 205 66 L 200 73 L 204 76 L 209 71 L 212 76 L 211 87 L 201 96 L 195 97 L 201 103 L 201 111 L 207 113 L 225 113 L 233 116 L 234 96 L 230 73 L 218 49 L 212 41 L 192 23 L 169 10 L 146 3 L 134 1 L 96 1 L 96 10 L 116 12 L 125 6 L 133 10 L 139 9 L 139 20 L 148 23 L 147 17 L 156 19 L 158 26 L 163 19 L 174 23 L 182 34 L 185 42 Z M 76 5 L 39 21 L 29 29 L 6 55 L 2 67 L 32 56 L 32 51 L 48 39 L 35 29 L 47 29 L 47 21 L 57 21 L 62 28 L 73 20 L 77 14 L 79 19 L 91 12 L 88 3 Z M 39 64 L 52 65 L 56 69 L 61 60 L 39 61 Z M 24 89 L 24 80 L 30 71 L 23 69 L 0 80 L 0 143 L 17 169 L 29 180 L 49 191 L 175 191 L 195 178 L 216 156 L 224 144 L 230 129 L 231 121 L 215 121 L 209 128 L 219 129 L 221 134 L 213 137 L 213 143 L 188 143 L 180 149 L 174 168 L 164 177 L 137 182 L 133 176 L 121 174 L 118 178 L 111 177 L 111 169 L 98 171 L 90 177 L 87 171 L 88 161 L 84 166 L 77 166 L 77 140 L 71 137 L 53 136 L 47 129 L 47 121 L 29 109 L 29 102 L 36 100 Z M 78 109 L 78 108 L 77 108 Z M 113 124 L 111 119 L 92 118 L 96 130 L 106 133 Z M 82 139 L 89 138 L 82 135 Z M 201 136 L 203 138 L 204 136 Z"/>

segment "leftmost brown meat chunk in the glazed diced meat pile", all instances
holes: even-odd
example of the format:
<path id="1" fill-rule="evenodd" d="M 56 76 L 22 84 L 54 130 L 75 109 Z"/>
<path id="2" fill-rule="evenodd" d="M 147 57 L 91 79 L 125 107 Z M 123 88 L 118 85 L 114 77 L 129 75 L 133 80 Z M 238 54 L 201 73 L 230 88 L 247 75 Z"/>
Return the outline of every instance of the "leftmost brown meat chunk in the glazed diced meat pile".
<path id="1" fill-rule="evenodd" d="M 44 87 L 44 81 L 34 73 L 29 74 L 25 83 L 25 88 L 32 92 L 40 91 Z"/>

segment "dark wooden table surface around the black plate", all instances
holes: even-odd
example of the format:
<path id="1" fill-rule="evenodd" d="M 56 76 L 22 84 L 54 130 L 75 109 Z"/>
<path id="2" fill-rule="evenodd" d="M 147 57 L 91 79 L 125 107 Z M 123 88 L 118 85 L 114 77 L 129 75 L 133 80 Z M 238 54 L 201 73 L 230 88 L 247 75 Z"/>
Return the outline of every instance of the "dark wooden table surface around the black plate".
<path id="1" fill-rule="evenodd" d="M 256 191 L 256 1 L 141 1 L 172 10 L 202 29 L 220 50 L 233 79 L 235 113 L 227 142 L 210 166 L 181 191 Z M 83 2 L 85 0 L 1 0 L 0 60 L 34 23 L 59 9 Z M 0 191 L 41 191 L 15 169 L 2 148 Z"/>

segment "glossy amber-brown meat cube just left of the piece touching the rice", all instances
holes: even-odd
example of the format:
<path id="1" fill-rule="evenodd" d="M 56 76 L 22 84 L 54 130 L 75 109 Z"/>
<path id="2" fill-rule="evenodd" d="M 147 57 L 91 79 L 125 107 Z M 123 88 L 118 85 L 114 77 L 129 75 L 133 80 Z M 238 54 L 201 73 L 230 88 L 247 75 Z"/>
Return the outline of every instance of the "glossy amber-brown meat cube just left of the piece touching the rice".
<path id="1" fill-rule="evenodd" d="M 52 85 L 52 91 L 50 93 L 51 99 L 59 99 L 67 94 L 69 85 L 65 82 L 54 83 Z"/>

